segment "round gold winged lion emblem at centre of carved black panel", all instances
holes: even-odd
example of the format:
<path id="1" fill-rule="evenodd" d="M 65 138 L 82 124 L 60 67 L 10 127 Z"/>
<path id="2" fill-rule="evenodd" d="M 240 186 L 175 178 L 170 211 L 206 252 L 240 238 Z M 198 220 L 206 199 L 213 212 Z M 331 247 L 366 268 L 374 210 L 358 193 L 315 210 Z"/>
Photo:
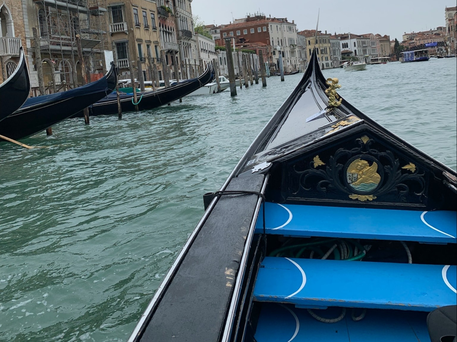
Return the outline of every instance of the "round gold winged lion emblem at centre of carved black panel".
<path id="1" fill-rule="evenodd" d="M 357 158 L 349 164 L 346 170 L 347 182 L 358 192 L 372 192 L 381 181 L 377 168 L 378 165 L 375 161 L 370 165 L 368 161 Z"/>

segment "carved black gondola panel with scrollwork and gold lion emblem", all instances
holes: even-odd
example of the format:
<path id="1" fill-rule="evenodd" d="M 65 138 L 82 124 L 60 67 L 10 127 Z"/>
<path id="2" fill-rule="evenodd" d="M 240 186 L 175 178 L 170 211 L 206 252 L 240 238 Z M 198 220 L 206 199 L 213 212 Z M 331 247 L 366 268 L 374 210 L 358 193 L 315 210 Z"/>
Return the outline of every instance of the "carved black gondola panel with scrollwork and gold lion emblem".
<path id="1" fill-rule="evenodd" d="M 426 205 L 429 173 L 411 156 L 378 140 L 369 133 L 352 136 L 289 161 L 283 171 L 282 197 Z"/>

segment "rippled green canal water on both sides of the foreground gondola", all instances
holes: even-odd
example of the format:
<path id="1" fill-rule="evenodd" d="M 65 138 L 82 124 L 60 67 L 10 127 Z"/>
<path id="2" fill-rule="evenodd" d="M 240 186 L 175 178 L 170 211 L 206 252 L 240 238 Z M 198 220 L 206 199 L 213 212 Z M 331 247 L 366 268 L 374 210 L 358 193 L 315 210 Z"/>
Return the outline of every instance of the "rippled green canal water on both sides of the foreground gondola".
<path id="1" fill-rule="evenodd" d="M 324 70 L 340 94 L 456 170 L 455 58 Z M 267 88 L 70 119 L 0 144 L 0 341 L 126 341 L 217 190 L 302 74 Z M 0 123 L 1 124 L 1 123 Z"/>

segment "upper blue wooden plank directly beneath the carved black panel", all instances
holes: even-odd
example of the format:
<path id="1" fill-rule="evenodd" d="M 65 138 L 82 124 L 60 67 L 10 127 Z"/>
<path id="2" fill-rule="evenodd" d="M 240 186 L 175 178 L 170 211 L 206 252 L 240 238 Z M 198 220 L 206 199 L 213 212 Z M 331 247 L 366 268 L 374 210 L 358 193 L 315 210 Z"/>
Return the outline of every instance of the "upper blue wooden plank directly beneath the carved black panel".
<path id="1" fill-rule="evenodd" d="M 266 202 L 265 222 L 266 233 L 296 237 L 457 242 L 455 211 L 420 212 Z M 256 233 L 262 232 L 263 216 L 259 215 Z"/>

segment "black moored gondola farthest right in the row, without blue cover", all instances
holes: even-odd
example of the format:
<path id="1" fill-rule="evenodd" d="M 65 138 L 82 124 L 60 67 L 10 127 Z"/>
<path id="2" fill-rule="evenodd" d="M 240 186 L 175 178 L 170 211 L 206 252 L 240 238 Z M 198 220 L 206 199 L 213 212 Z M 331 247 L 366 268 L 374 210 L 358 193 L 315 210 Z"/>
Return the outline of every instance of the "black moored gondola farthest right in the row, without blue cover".
<path id="1" fill-rule="evenodd" d="M 148 91 L 137 94 L 138 110 L 154 109 L 164 104 L 169 104 L 179 98 L 182 98 L 205 84 L 211 82 L 214 78 L 214 69 L 208 64 L 205 71 L 197 78 L 191 78 L 186 81 L 175 84 L 172 87 L 160 90 Z M 122 112 L 135 110 L 135 103 L 132 94 L 120 95 Z M 101 100 L 97 101 L 90 107 L 90 115 L 117 114 L 117 96 L 108 94 Z M 82 116 L 78 113 L 75 116 Z"/>

